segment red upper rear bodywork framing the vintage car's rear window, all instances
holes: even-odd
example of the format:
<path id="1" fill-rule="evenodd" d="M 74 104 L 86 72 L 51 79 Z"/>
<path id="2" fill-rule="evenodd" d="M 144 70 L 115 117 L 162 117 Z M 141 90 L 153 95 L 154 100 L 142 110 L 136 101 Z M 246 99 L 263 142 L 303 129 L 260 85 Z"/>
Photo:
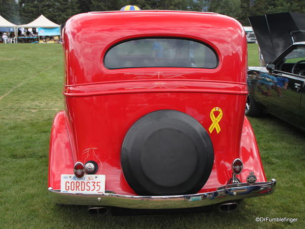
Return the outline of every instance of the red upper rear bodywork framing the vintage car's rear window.
<path id="1" fill-rule="evenodd" d="M 103 56 L 114 44 L 139 37 L 183 37 L 209 45 L 218 56 L 215 69 L 130 68 L 109 70 Z M 110 11 L 71 17 L 63 32 L 66 84 L 122 81 L 128 74 L 160 70 L 188 79 L 245 83 L 246 39 L 241 24 L 228 16 L 186 11 Z"/>

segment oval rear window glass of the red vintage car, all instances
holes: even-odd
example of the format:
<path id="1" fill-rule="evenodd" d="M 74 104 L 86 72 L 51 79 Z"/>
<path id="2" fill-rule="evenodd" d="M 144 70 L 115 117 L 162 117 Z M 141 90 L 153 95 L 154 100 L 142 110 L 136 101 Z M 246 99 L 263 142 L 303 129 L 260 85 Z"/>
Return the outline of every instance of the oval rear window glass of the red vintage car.
<path id="1" fill-rule="evenodd" d="M 175 38 L 129 40 L 106 53 L 109 69 L 143 67 L 215 68 L 215 52 L 203 43 Z"/>

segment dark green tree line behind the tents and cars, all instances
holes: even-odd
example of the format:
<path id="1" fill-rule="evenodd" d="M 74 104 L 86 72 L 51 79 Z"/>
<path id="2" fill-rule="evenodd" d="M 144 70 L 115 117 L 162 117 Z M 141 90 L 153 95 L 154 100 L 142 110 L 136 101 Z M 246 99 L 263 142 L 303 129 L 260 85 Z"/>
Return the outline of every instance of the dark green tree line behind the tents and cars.
<path id="1" fill-rule="evenodd" d="M 234 17 L 243 25 L 249 25 L 249 16 L 305 13 L 305 1 L 300 0 L 0 0 L 0 14 L 17 24 L 31 22 L 41 14 L 64 24 L 77 13 L 120 10 L 126 5 L 142 10 L 210 11 Z"/>

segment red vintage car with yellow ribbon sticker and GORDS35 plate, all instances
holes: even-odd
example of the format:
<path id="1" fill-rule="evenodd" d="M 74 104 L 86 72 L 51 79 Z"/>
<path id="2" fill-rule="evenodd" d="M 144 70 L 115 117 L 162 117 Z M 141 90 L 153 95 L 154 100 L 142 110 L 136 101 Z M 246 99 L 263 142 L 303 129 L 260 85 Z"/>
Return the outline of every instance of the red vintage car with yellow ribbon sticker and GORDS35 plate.
<path id="1" fill-rule="evenodd" d="M 91 12 L 67 21 L 63 46 L 65 110 L 49 149 L 56 203 L 233 211 L 274 190 L 244 116 L 247 43 L 235 19 Z"/>

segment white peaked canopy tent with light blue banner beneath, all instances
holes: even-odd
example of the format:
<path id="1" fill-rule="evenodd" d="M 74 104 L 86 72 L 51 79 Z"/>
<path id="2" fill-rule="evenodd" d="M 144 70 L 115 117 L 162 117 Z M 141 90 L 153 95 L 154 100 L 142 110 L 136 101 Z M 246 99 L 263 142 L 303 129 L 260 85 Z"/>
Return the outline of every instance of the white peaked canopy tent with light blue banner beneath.
<path id="1" fill-rule="evenodd" d="M 36 18 L 34 21 L 28 23 L 28 24 L 20 24 L 17 25 L 18 28 L 24 27 L 24 28 L 38 28 L 38 42 L 39 42 L 39 36 L 49 36 L 50 35 L 50 31 L 48 31 L 48 29 L 50 30 L 51 28 L 58 28 L 58 30 L 56 30 L 54 35 L 59 35 L 60 37 L 60 27 L 61 25 L 56 24 L 52 21 L 50 21 L 49 19 L 47 19 L 45 16 L 43 16 L 42 14 Z M 41 35 L 40 33 L 45 33 L 44 35 Z M 51 35 L 53 36 L 53 35 Z"/>

